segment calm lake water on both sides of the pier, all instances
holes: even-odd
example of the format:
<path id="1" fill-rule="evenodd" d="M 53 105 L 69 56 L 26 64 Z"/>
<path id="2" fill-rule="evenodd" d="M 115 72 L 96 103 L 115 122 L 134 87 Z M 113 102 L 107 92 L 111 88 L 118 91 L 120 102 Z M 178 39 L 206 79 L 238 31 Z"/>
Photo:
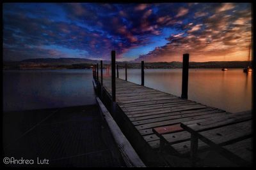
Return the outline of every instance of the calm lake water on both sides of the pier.
<path id="1" fill-rule="evenodd" d="M 105 71 L 104 71 L 105 73 Z M 141 83 L 140 69 L 128 81 Z M 120 78 L 125 79 L 124 69 Z M 145 69 L 145 86 L 181 95 L 182 69 Z M 252 110 L 252 74 L 243 69 L 189 69 L 188 99 L 230 112 Z M 95 104 L 92 70 L 3 72 L 4 111 Z"/>

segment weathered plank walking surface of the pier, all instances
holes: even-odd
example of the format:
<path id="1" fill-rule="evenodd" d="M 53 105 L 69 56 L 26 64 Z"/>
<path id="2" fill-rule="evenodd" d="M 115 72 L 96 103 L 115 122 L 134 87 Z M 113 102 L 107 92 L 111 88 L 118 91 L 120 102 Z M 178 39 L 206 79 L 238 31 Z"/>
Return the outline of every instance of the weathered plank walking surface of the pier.
<path id="1" fill-rule="evenodd" d="M 111 97 L 110 78 L 104 78 L 104 89 Z M 218 108 L 182 99 L 120 78 L 116 78 L 116 104 L 124 113 L 128 124 L 138 132 L 142 137 L 141 140 L 144 140 L 143 142 L 147 143 L 152 149 L 159 148 L 159 137 L 154 134 L 153 128 L 207 118 L 211 120 L 211 117 L 221 117 L 222 115 L 227 118 L 230 114 Z M 240 118 L 246 119 L 246 116 L 241 115 Z M 218 124 L 217 121 L 214 123 Z M 163 136 L 166 141 L 174 146 L 173 148 L 177 152 L 189 152 L 189 132 L 179 131 L 172 134 L 163 134 Z M 198 145 L 200 148 L 208 147 L 200 140 Z"/>

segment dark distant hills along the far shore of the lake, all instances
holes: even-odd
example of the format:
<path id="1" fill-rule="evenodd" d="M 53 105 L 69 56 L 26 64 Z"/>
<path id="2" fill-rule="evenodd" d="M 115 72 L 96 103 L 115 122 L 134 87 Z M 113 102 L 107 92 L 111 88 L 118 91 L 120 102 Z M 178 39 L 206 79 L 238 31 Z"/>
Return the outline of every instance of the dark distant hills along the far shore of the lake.
<path id="1" fill-rule="evenodd" d="M 4 62 L 3 69 L 90 69 L 99 60 L 80 58 L 59 58 L 59 59 L 26 59 L 17 62 Z M 110 64 L 110 60 L 104 60 L 103 64 Z M 116 62 L 118 67 L 124 68 L 126 62 Z M 252 66 L 252 61 L 210 61 L 210 62 L 189 62 L 190 68 L 245 68 Z M 128 62 L 128 68 L 140 68 L 140 62 Z M 182 68 L 182 62 L 145 62 L 146 69 L 173 69 Z"/>

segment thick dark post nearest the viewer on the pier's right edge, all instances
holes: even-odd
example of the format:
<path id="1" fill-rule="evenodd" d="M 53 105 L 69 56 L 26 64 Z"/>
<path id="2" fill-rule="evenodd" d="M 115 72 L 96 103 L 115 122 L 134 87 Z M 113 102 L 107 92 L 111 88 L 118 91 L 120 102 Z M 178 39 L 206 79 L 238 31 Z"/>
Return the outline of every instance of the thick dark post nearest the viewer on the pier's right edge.
<path id="1" fill-rule="evenodd" d="M 189 54 L 183 54 L 183 66 L 182 66 L 182 93 L 181 98 L 188 99 L 188 66 L 189 66 Z"/>

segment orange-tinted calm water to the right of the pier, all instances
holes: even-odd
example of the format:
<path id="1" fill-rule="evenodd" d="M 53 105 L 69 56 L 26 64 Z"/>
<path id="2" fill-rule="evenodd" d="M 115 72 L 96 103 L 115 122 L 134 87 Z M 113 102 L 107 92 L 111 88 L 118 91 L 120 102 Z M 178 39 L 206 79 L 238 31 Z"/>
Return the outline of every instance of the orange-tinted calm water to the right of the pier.
<path id="1" fill-rule="evenodd" d="M 119 77 L 125 79 L 124 69 Z M 140 69 L 127 80 L 141 83 Z M 145 86 L 181 96 L 182 69 L 145 69 Z M 252 110 L 252 73 L 243 69 L 189 69 L 188 99 L 230 112 Z"/>

